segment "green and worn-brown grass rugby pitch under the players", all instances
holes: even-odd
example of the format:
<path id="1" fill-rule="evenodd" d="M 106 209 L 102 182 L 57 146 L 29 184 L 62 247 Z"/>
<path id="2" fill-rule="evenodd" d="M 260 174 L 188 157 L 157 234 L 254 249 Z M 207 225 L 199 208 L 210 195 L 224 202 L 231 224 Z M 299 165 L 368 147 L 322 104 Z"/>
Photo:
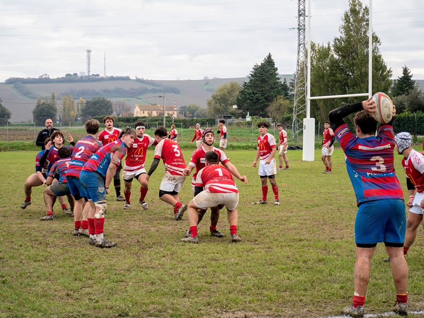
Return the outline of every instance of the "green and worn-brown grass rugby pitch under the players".
<path id="1" fill-rule="evenodd" d="M 250 205 L 261 193 L 257 168 L 251 167 L 254 151 L 229 151 L 249 179 L 247 185 L 237 181 L 242 238 L 237 244 L 230 242 L 224 210 L 218 224 L 224 238 L 209 236 L 208 212 L 199 226 L 199 244 L 180 242 L 187 215 L 175 221 L 170 206 L 159 200 L 161 164 L 150 179 L 148 211 L 137 203 L 137 181 L 131 210 L 114 200 L 114 190 L 108 195 L 105 237 L 118 242 L 111 249 L 72 236 L 73 220 L 58 207 L 54 221 L 39 221 L 45 213 L 41 187 L 33 189 L 31 206 L 19 208 L 35 154 L 0 152 L 0 317 L 315 318 L 340 315 L 351 302 L 357 209 L 340 149 L 329 175 L 321 173 L 319 151 L 315 162 L 302 162 L 301 151 L 289 151 L 290 170 L 277 174 L 282 201 L 277 207 Z M 190 154 L 185 152 L 186 162 Z M 395 158 L 406 190 L 401 157 Z M 151 160 L 152 151 L 147 166 Z M 181 198 L 191 197 L 188 178 Z M 410 310 L 424 309 L 422 236 L 420 228 L 407 258 Z M 367 313 L 387 312 L 394 304 L 386 256 L 378 244 Z"/>

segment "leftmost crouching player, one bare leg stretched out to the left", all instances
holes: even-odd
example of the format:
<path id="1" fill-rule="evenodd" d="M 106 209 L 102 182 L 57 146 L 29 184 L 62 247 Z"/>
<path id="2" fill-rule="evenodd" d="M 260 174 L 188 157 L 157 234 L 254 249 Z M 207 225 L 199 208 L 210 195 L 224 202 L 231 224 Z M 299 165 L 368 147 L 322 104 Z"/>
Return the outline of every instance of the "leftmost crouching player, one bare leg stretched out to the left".
<path id="1" fill-rule="evenodd" d="M 44 141 L 44 145 L 47 145 L 49 142 L 50 142 L 50 137 Z M 35 156 L 35 173 L 31 174 L 25 181 L 25 185 L 24 185 L 25 200 L 24 200 L 24 203 L 20 205 L 21 209 L 26 209 L 28 206 L 31 205 L 31 193 L 32 193 L 31 188 L 32 187 L 39 187 L 41 185 L 46 185 L 46 178 L 47 178 L 46 173 L 49 167 L 49 161 L 44 162 L 43 166 L 40 165 L 40 159 L 43 154 L 44 154 L 44 150 L 41 150 Z M 53 179 L 52 183 L 55 183 L 55 182 L 57 182 L 57 180 Z M 55 200 L 56 200 L 56 197 L 53 199 L 53 204 Z M 63 196 L 59 196 L 58 200 L 62 206 L 66 207 L 65 198 Z"/>

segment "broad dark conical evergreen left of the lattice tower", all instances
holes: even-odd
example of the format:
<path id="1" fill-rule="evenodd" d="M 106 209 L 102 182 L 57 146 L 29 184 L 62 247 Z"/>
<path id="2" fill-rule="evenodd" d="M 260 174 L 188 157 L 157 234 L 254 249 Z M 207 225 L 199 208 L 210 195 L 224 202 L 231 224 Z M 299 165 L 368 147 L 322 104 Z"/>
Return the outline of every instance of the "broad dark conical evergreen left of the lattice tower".
<path id="1" fill-rule="evenodd" d="M 248 75 L 249 81 L 243 82 L 236 103 L 239 110 L 246 115 L 266 117 L 266 108 L 279 95 L 284 96 L 283 84 L 277 73 L 278 69 L 269 53 L 260 65 L 255 64 Z"/>

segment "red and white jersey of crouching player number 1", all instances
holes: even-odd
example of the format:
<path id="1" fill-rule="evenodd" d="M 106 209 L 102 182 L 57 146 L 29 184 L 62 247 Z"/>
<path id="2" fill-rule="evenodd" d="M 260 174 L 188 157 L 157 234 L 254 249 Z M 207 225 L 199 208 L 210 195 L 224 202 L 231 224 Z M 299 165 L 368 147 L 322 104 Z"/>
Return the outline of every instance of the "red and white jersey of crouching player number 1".
<path id="1" fill-rule="evenodd" d="M 219 165 L 209 165 L 200 170 L 195 187 L 204 187 L 211 193 L 238 193 L 230 170 Z"/>

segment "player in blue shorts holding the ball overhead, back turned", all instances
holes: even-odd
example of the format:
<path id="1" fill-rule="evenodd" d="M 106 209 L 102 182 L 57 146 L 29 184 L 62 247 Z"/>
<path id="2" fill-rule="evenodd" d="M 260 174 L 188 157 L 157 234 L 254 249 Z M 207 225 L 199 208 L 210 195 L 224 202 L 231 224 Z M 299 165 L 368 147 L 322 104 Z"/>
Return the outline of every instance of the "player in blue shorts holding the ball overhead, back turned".
<path id="1" fill-rule="evenodd" d="M 404 193 L 394 170 L 395 147 L 392 121 L 381 125 L 369 112 L 375 103 L 368 99 L 331 110 L 329 119 L 336 139 L 345 153 L 345 162 L 356 196 L 356 261 L 353 271 L 353 301 L 343 313 L 364 316 L 365 293 L 370 277 L 370 261 L 378 242 L 384 242 L 391 260 L 396 289 L 394 312 L 407 314 L 408 265 L 403 245 L 406 229 Z M 395 114 L 396 109 L 393 109 Z M 343 118 L 356 113 L 356 135 L 349 131 Z"/>

